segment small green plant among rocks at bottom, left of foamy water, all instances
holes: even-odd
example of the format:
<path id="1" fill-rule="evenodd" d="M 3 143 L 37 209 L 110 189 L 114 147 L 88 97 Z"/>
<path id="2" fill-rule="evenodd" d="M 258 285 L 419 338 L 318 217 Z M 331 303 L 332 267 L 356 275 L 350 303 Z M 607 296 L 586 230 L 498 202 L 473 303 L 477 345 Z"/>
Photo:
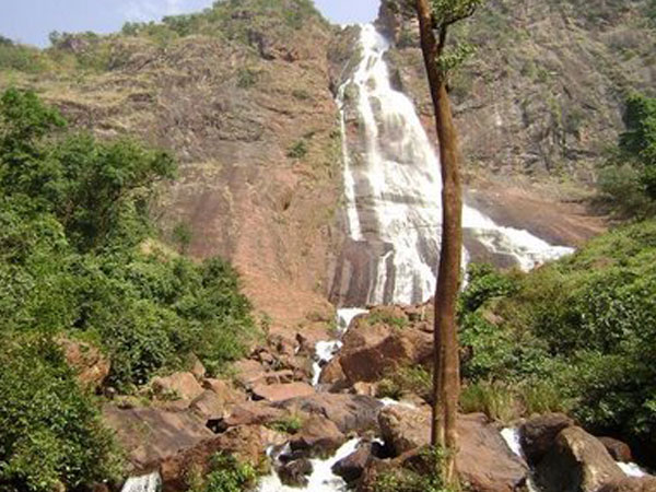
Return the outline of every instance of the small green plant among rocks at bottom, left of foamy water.
<path id="1" fill-rule="evenodd" d="M 208 475 L 203 477 L 200 470 L 195 470 L 187 478 L 189 492 L 243 492 L 250 490 L 256 481 L 257 472 L 251 465 L 221 453 L 214 455 Z"/>

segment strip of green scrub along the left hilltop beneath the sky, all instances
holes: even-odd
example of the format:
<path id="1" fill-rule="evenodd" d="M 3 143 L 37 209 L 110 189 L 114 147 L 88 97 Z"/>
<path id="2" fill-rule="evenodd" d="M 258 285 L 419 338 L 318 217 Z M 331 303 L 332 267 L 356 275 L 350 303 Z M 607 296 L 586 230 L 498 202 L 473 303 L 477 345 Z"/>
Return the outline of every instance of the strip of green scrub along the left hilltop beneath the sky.
<path id="1" fill-rule="evenodd" d="M 176 39 L 202 35 L 258 51 L 267 39 L 285 39 L 308 20 L 328 25 L 312 0 L 220 0 L 199 13 L 168 15 L 161 22 L 128 22 L 117 34 L 56 31 L 49 36 L 50 47 L 44 50 L 0 36 L 0 70 L 24 73 L 114 70 L 122 67 L 131 55 L 118 42 L 130 38 L 145 39 L 164 48 Z"/>

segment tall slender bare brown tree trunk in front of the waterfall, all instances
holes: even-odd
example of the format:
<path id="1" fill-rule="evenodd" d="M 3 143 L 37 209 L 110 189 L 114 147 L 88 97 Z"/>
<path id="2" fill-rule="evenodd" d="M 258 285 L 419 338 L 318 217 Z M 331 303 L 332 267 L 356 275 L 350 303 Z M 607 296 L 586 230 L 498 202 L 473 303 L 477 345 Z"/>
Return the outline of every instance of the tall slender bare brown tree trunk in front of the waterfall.
<path id="1" fill-rule="evenodd" d="M 433 425 L 431 444 L 447 449 L 445 480 L 457 485 L 455 455 L 458 445 L 457 412 L 460 394 L 456 303 L 462 255 L 462 187 L 458 136 L 454 127 L 446 80 L 438 66 L 446 40 L 446 27 L 433 30 L 427 0 L 415 0 L 421 48 L 435 108 L 435 124 L 442 164 L 442 251 L 435 292 L 435 360 L 433 373 Z"/>

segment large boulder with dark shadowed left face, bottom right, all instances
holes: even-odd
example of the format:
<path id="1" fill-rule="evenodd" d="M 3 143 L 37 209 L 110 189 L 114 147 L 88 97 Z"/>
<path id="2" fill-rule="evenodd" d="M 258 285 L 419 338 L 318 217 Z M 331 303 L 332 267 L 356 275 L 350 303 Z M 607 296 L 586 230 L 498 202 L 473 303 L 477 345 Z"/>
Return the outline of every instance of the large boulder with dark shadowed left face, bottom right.
<path id="1" fill-rule="evenodd" d="M 604 444 L 576 426 L 560 432 L 535 476 L 544 492 L 597 492 L 607 483 L 624 479 Z"/>

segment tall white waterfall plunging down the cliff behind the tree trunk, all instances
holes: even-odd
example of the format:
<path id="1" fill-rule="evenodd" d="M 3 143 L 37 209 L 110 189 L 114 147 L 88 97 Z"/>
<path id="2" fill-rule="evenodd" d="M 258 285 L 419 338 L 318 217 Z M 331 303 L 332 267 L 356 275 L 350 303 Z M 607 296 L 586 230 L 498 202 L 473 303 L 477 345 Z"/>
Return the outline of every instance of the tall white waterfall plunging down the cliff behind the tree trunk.
<path id="1" fill-rule="evenodd" d="M 414 105 L 390 84 L 384 60 L 388 42 L 367 24 L 360 43 L 360 66 L 338 93 L 349 234 L 354 241 L 391 246 L 378 258 L 368 303 L 420 303 L 435 290 L 442 229 L 440 161 Z M 350 101 L 355 92 L 358 99 Z M 356 106 L 364 137 L 365 151 L 358 163 L 348 145 L 347 104 Z M 375 218 L 375 225 L 363 230 L 362 216 Z M 501 227 L 467 206 L 462 222 L 491 251 L 513 256 L 525 270 L 572 251 L 527 231 Z M 464 255 L 464 261 L 467 258 Z"/>

